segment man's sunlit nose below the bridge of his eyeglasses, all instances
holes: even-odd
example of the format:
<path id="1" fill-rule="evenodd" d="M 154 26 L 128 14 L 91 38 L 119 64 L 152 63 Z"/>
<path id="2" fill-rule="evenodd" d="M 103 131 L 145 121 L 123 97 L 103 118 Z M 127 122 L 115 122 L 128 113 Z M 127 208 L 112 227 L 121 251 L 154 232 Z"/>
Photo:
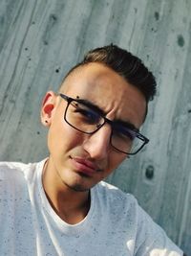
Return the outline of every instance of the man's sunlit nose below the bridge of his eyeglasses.
<path id="1" fill-rule="evenodd" d="M 110 151 L 110 137 L 112 128 L 105 124 L 102 128 L 99 128 L 95 133 L 88 135 L 84 141 L 83 147 L 87 151 L 91 158 L 96 160 L 102 160 L 107 157 Z"/>

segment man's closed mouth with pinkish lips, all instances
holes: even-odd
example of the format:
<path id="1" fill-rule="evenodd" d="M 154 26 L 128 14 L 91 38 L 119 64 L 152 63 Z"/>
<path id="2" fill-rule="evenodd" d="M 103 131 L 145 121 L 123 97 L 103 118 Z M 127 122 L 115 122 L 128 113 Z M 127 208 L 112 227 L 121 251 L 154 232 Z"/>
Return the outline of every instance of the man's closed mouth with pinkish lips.
<path id="1" fill-rule="evenodd" d="M 98 166 L 90 160 L 78 156 L 71 157 L 71 159 L 74 164 L 74 169 L 77 171 L 77 173 L 87 176 L 93 176 L 97 172 L 100 172 Z"/>

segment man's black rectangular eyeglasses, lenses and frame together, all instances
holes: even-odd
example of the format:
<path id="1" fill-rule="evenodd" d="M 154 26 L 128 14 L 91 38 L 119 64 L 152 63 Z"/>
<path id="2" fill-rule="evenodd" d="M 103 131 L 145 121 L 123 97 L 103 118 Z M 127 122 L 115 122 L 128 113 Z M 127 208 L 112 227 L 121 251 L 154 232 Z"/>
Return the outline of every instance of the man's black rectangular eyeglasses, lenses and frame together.
<path id="1" fill-rule="evenodd" d="M 115 150 L 128 155 L 136 154 L 149 142 L 132 124 L 107 119 L 96 105 L 61 93 L 59 96 L 68 102 L 64 113 L 66 123 L 87 134 L 93 134 L 104 124 L 109 124 L 112 128 L 110 144 Z"/>

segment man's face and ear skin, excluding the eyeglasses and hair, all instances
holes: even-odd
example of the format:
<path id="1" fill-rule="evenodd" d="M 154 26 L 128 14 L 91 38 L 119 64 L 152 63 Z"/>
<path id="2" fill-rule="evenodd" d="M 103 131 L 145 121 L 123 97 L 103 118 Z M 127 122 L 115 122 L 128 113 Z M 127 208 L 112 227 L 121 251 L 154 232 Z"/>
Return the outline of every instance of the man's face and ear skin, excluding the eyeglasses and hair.
<path id="1" fill-rule="evenodd" d="M 64 82 L 62 93 L 97 105 L 110 120 L 139 128 L 146 102 L 138 89 L 116 72 L 99 63 L 77 68 Z M 49 172 L 58 186 L 86 191 L 110 175 L 126 158 L 110 145 L 111 127 L 105 124 L 94 134 L 72 128 L 64 120 L 67 102 L 47 94 L 43 111 L 49 120 Z"/>

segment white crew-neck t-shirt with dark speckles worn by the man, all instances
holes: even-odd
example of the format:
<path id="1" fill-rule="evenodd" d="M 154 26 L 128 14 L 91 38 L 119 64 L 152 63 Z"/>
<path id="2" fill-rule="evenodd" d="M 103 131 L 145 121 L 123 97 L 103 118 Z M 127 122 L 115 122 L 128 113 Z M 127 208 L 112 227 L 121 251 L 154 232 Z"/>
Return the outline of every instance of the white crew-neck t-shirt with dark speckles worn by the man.
<path id="1" fill-rule="evenodd" d="M 91 190 L 83 221 L 62 221 L 42 187 L 44 162 L 0 163 L 0 255 L 182 255 L 133 196 L 106 182 Z"/>

